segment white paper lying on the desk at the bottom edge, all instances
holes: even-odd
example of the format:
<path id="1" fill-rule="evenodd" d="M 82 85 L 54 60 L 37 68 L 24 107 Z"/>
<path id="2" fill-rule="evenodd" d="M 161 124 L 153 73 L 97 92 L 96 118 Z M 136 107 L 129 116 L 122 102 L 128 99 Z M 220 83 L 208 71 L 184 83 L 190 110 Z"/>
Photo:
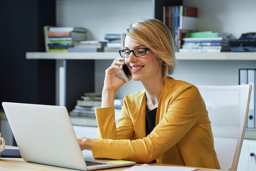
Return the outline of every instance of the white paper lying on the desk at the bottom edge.
<path id="1" fill-rule="evenodd" d="M 131 168 L 125 170 L 145 170 L 145 171 L 156 171 L 156 170 L 163 170 L 163 171 L 191 171 L 196 170 L 197 168 L 189 168 L 189 167 L 178 167 L 178 166 L 150 166 L 148 164 L 142 164 L 140 166 L 132 166 Z"/>

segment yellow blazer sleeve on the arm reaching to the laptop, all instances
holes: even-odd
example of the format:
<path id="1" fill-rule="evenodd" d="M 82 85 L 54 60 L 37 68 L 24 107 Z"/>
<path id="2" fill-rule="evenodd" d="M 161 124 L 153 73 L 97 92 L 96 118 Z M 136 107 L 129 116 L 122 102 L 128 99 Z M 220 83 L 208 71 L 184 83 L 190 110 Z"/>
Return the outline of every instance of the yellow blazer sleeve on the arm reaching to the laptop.
<path id="1" fill-rule="evenodd" d="M 168 103 L 168 111 L 147 137 L 136 140 L 94 139 L 93 157 L 148 163 L 172 148 L 201 117 L 201 96 L 195 86 L 176 94 L 174 99 L 163 100 L 163 103 Z"/>

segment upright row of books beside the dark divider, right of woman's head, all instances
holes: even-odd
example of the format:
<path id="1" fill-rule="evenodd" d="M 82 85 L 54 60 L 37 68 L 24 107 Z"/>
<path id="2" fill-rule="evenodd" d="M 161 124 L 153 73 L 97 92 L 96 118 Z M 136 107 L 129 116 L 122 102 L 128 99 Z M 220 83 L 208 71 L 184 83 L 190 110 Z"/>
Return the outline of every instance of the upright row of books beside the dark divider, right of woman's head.
<path id="1" fill-rule="evenodd" d="M 163 23 L 172 33 L 176 51 L 179 51 L 184 34 L 198 31 L 197 8 L 183 5 L 164 6 L 163 8 Z"/>

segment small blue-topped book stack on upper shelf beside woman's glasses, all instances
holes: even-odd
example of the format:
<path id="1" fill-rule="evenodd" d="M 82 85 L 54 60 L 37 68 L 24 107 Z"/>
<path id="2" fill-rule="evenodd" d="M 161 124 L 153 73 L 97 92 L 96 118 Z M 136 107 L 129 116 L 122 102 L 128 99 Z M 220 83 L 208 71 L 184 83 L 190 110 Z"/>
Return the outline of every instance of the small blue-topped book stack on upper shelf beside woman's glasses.
<path id="1" fill-rule="evenodd" d="M 117 52 L 121 49 L 121 35 L 120 34 L 105 34 L 107 46 L 104 47 L 104 52 Z"/>

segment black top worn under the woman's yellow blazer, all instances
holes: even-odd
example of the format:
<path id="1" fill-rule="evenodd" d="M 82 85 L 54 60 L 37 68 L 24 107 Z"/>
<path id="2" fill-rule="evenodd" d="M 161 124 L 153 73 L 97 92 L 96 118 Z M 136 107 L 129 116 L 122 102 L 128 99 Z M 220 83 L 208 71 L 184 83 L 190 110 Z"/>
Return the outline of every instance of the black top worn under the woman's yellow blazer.
<path id="1" fill-rule="evenodd" d="M 148 111 L 148 108 L 146 107 L 146 136 L 148 136 L 156 126 L 156 111 L 157 108 Z M 156 163 L 156 159 L 152 162 Z"/>

